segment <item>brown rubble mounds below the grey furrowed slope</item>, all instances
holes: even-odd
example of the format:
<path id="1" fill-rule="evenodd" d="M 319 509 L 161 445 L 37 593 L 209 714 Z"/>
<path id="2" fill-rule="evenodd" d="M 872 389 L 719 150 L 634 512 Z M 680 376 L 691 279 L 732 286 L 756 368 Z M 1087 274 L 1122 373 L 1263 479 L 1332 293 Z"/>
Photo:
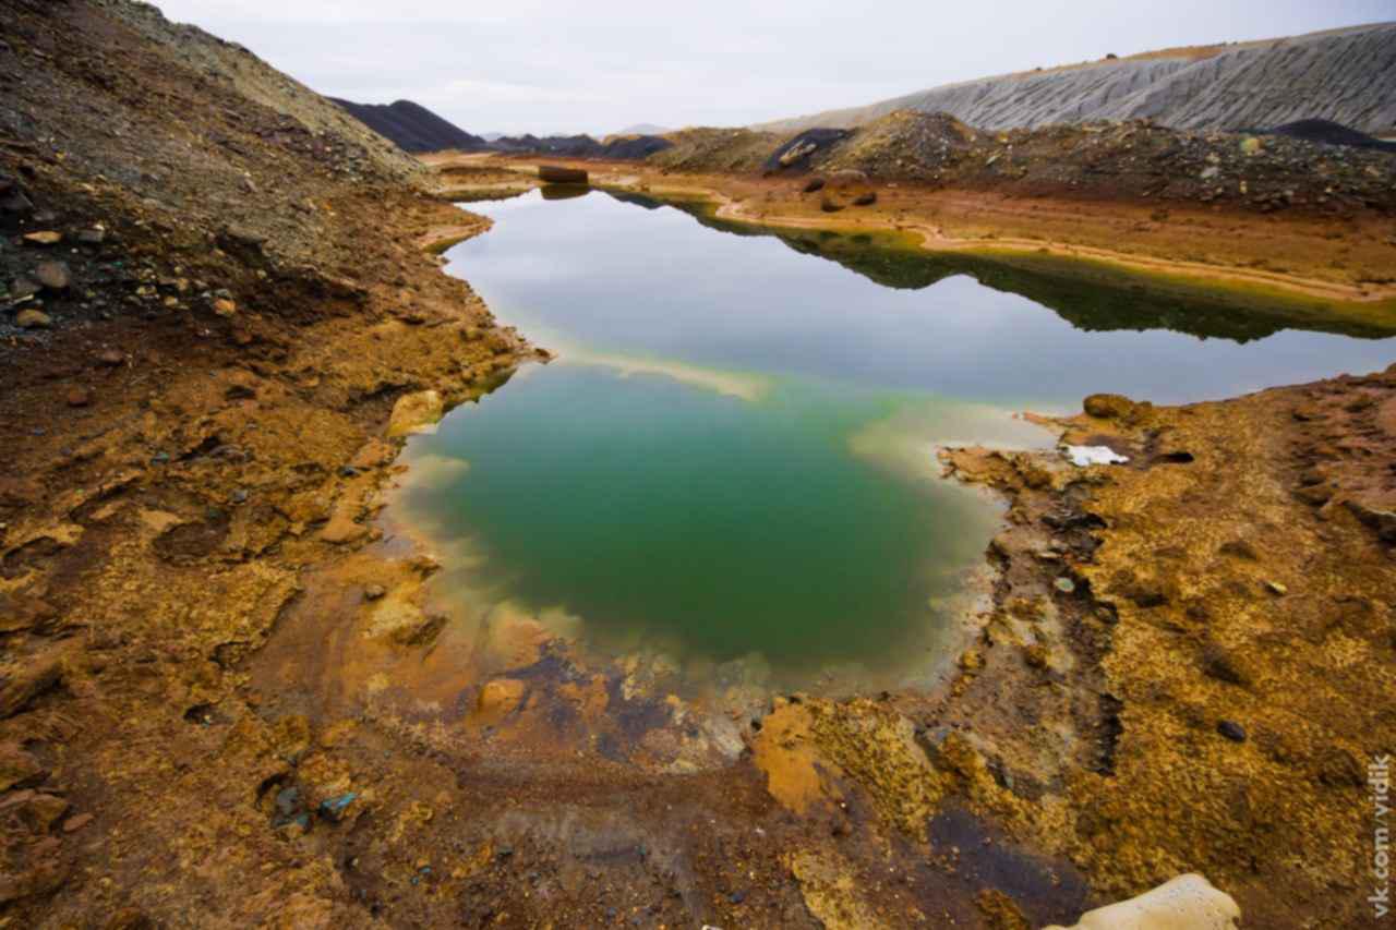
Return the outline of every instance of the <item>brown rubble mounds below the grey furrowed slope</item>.
<path id="1" fill-rule="evenodd" d="M 852 131 L 684 130 L 670 140 L 674 147 L 651 156 L 651 165 L 768 176 L 843 172 L 839 186 L 856 190 L 832 200 L 833 208 L 850 205 L 870 184 L 910 182 L 1005 195 L 1228 204 L 1262 212 L 1396 209 L 1396 156 L 1381 147 L 1329 145 L 1294 134 L 1175 130 L 1152 120 L 988 133 L 946 113 L 898 110 Z"/>

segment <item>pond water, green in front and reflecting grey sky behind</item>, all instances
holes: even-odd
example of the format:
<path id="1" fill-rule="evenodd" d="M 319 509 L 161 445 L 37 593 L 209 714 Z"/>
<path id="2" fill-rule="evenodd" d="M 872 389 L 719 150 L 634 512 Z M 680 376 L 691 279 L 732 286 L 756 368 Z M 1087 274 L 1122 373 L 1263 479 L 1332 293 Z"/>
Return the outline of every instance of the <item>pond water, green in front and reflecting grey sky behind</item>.
<path id="1" fill-rule="evenodd" d="M 473 609 L 565 614 L 616 652 L 755 655 L 787 677 L 923 667 L 998 519 L 938 478 L 938 443 L 1039 444 L 1012 411 L 1099 390 L 1223 397 L 1393 355 L 1263 320 L 1244 342 L 1113 330 L 1121 302 L 1146 302 L 1068 288 L 1048 309 L 926 260 L 825 261 L 818 242 L 600 193 L 470 208 L 497 222 L 450 271 L 560 357 L 413 438 L 402 508 L 469 553 Z"/>

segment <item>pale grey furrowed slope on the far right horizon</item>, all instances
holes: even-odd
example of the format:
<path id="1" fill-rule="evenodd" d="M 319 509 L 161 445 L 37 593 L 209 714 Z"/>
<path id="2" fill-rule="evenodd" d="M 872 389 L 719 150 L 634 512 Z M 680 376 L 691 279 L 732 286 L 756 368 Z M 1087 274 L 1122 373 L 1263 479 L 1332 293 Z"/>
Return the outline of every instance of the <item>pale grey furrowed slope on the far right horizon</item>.
<path id="1" fill-rule="evenodd" d="M 965 81 L 757 128 L 849 128 L 906 109 L 949 113 L 986 130 L 1134 119 L 1238 130 L 1326 119 L 1390 134 L 1396 133 L 1396 24 Z"/>

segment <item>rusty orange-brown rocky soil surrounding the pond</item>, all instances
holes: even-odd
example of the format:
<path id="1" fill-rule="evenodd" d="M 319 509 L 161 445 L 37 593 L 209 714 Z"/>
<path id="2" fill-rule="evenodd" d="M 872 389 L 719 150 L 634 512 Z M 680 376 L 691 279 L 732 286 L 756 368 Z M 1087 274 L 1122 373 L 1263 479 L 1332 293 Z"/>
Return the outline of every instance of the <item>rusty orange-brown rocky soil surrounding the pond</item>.
<path id="1" fill-rule="evenodd" d="M 32 187 L 59 200 L 64 170 Z M 168 311 L 6 346 L 0 926 L 1036 927 L 1189 870 L 1248 924 L 1364 919 L 1365 767 L 1396 741 L 1396 369 L 1046 422 L 1122 466 L 949 450 L 1009 504 L 949 681 L 678 700 L 663 656 L 433 598 L 456 554 L 380 512 L 405 430 L 539 356 L 423 254 L 486 223 L 325 184 L 315 242 L 355 261 L 275 283 L 229 246 L 200 274 L 237 276 L 232 313 L 169 271 Z M 980 239 L 1152 222 L 886 200 L 882 223 Z M 1195 243 L 1188 218 L 1132 242 Z M 1307 223 L 1252 232 L 1339 247 Z M 152 229 L 123 249 L 173 264 Z"/>

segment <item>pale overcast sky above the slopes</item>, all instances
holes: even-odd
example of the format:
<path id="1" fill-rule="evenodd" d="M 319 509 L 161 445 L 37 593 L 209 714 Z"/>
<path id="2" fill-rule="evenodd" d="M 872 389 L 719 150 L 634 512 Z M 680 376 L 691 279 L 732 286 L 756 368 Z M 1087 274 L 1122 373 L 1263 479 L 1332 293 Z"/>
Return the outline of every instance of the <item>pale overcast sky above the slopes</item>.
<path id="1" fill-rule="evenodd" d="M 741 126 L 1037 66 L 1396 18 L 1396 0 L 156 0 L 321 94 L 472 133 Z M 394 8 L 396 7 L 396 8 Z"/>

